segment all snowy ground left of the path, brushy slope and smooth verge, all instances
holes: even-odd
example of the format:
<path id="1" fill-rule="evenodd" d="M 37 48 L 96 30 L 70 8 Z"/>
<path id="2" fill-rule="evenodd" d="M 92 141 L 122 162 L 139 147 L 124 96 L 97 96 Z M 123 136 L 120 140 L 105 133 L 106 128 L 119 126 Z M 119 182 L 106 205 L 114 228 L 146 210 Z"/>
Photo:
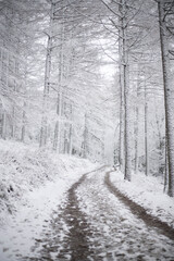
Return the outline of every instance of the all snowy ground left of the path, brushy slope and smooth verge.
<path id="1" fill-rule="evenodd" d="M 30 253 L 71 185 L 97 167 L 87 160 L 0 141 L 0 260 Z"/>

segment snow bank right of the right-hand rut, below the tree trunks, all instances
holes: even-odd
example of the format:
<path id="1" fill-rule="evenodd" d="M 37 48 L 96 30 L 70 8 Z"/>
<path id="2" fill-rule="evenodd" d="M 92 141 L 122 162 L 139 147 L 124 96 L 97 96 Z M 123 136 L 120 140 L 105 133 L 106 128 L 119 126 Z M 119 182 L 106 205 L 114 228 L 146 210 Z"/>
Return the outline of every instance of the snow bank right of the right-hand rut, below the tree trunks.
<path id="1" fill-rule="evenodd" d="M 124 181 L 121 172 L 110 174 L 114 186 L 147 212 L 174 227 L 174 198 L 163 194 L 163 184 L 157 177 L 133 174 L 132 182 Z"/>

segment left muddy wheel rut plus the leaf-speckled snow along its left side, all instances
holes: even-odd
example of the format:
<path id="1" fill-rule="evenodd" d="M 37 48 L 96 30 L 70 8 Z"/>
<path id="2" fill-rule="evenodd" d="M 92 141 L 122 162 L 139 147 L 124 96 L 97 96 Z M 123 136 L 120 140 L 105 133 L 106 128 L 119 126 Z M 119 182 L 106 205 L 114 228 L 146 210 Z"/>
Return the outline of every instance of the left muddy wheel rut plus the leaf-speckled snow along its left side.
<path id="1" fill-rule="evenodd" d="M 94 256 L 91 243 L 94 229 L 90 229 L 90 224 L 87 222 L 87 216 L 80 211 L 76 189 L 85 182 L 86 176 L 102 170 L 104 166 L 84 174 L 78 182 L 67 190 L 67 197 L 63 207 L 53 213 L 49 224 L 50 232 L 44 234 L 42 239 L 36 239 L 36 245 L 33 247 L 33 252 L 38 252 L 38 257 L 25 257 L 21 260 L 28 261 L 88 261 L 89 257 Z M 62 222 L 63 221 L 63 222 Z M 64 231 L 63 224 L 67 227 Z M 61 233 L 65 236 L 62 238 Z M 61 248 L 60 248 L 61 247 Z M 40 250 L 38 250 L 40 249 Z M 53 257 L 51 256 L 53 253 Z"/>

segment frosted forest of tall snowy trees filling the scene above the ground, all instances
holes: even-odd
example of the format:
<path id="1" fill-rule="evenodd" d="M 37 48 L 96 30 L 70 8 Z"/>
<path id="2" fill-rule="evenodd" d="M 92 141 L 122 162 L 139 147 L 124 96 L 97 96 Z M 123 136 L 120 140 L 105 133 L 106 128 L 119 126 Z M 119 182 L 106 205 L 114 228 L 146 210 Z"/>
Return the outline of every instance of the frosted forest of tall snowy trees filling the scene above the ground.
<path id="1" fill-rule="evenodd" d="M 100 162 L 112 139 L 125 179 L 174 196 L 173 21 L 173 0 L 1 1 L 1 138 Z"/>

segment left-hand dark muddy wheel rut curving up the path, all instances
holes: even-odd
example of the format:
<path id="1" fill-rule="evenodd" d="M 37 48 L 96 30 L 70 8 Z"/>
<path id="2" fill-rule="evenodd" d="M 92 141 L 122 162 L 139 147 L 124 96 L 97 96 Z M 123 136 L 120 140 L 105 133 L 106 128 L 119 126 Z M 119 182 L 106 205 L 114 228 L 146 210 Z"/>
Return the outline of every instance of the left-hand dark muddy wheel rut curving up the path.
<path id="1" fill-rule="evenodd" d="M 64 216 L 66 224 L 71 227 L 66 241 L 71 252 L 71 261 L 87 261 L 90 260 L 89 257 L 94 254 L 91 243 L 89 241 L 94 231 L 90 229 L 86 214 L 79 209 L 76 189 L 85 182 L 88 174 L 95 173 L 103 167 L 105 166 L 84 174 L 83 177 L 69 189 Z"/>

